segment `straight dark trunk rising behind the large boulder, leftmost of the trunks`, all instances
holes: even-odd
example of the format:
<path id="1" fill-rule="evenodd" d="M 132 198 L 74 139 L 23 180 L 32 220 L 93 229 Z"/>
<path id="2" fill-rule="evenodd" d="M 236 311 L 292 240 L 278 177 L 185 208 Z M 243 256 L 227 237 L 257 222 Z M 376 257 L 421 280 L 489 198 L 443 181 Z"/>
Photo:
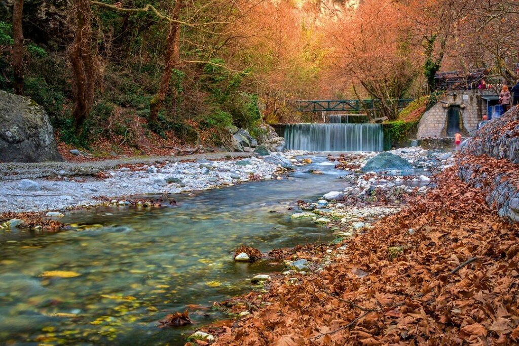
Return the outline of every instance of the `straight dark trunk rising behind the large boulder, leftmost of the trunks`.
<path id="1" fill-rule="evenodd" d="M 12 6 L 12 71 L 15 94 L 23 95 L 23 0 L 15 0 Z"/>

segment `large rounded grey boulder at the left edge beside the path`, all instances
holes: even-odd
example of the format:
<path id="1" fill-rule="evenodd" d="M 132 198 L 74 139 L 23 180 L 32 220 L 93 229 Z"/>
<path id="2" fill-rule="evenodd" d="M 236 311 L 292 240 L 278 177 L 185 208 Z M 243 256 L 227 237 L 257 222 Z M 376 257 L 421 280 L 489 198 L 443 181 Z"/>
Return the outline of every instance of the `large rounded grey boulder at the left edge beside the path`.
<path id="1" fill-rule="evenodd" d="M 0 91 L 0 161 L 63 161 L 45 109 L 5 91 Z"/>

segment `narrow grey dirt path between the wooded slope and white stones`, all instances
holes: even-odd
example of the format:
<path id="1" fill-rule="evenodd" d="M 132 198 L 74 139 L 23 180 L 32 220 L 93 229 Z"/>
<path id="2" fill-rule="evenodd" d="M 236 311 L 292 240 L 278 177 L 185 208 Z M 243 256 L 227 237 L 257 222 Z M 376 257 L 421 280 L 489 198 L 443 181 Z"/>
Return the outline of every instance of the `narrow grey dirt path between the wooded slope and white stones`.
<path id="1" fill-rule="evenodd" d="M 155 164 L 158 162 L 179 162 L 196 159 L 236 159 L 241 157 L 251 157 L 253 153 L 207 153 L 184 156 L 148 156 L 148 157 L 129 157 L 121 159 L 111 159 L 104 161 L 91 162 L 38 162 L 20 163 L 7 162 L 0 163 L 0 180 L 19 180 L 34 179 L 49 175 L 93 175 L 101 171 L 109 170 L 120 164 Z"/>

